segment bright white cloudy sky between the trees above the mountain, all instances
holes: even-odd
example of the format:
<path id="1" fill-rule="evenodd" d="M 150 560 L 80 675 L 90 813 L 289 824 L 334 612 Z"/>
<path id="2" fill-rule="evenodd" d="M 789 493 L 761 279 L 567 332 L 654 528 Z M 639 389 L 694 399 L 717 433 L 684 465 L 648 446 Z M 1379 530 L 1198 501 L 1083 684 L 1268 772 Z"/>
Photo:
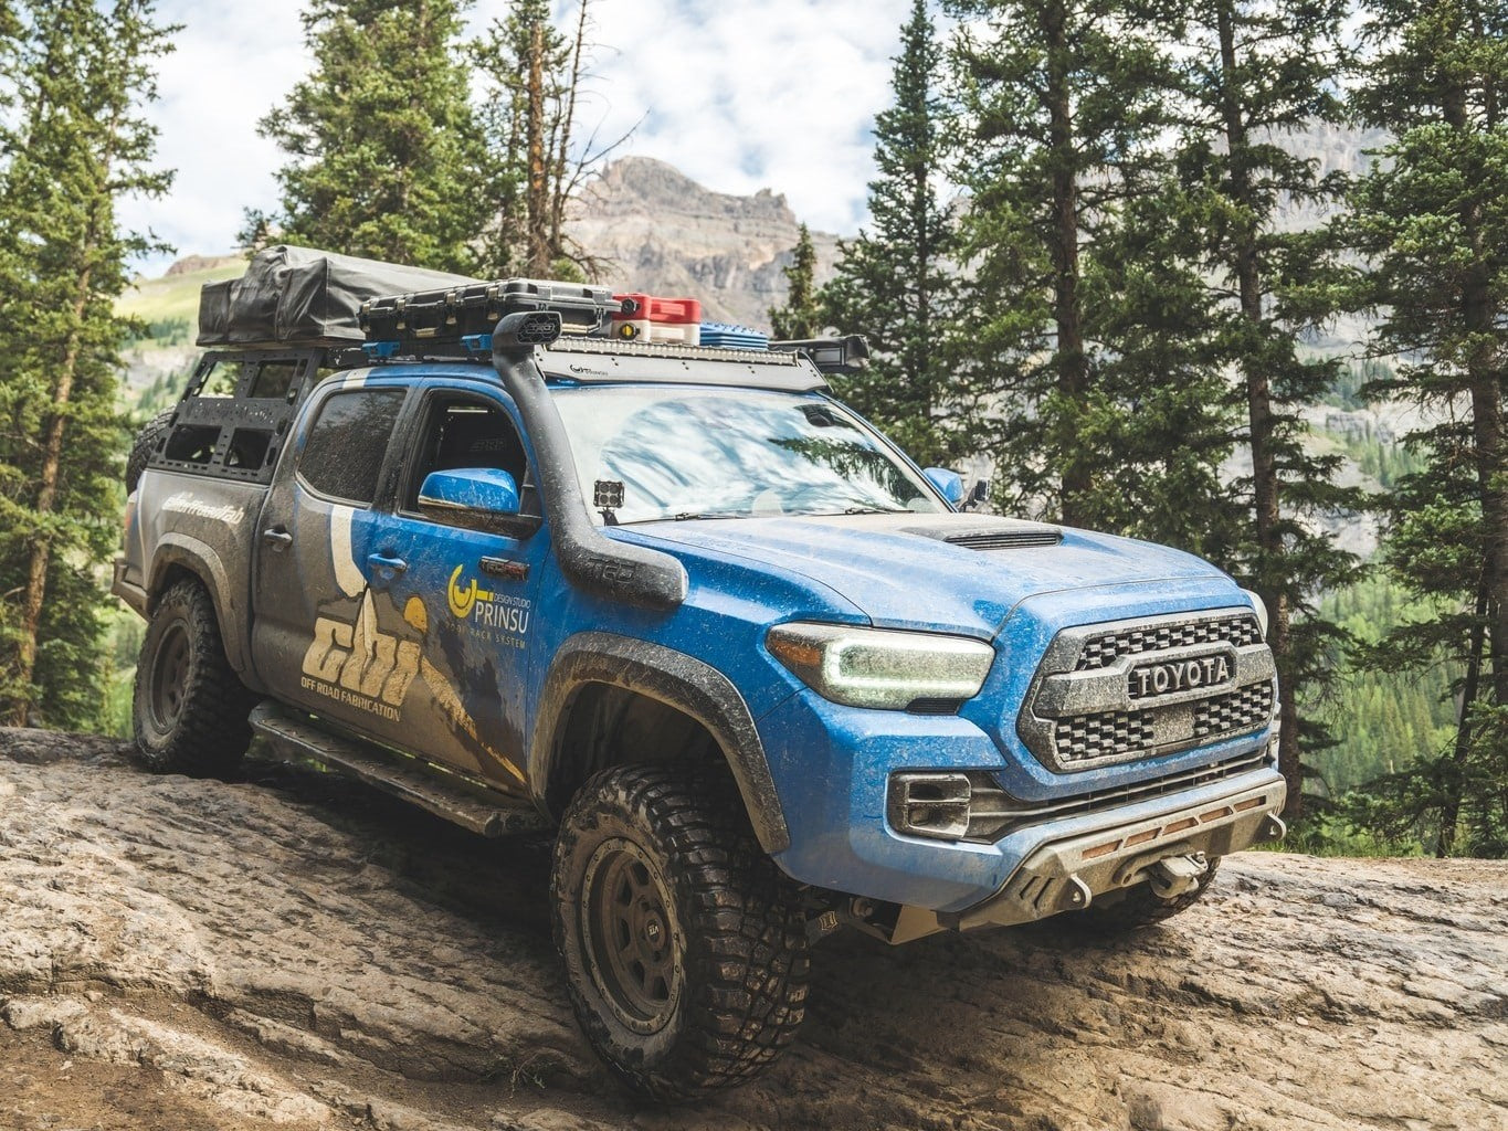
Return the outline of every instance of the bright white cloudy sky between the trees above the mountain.
<path id="1" fill-rule="evenodd" d="M 558 0 L 556 8 L 575 9 Z M 481 32 L 507 9 L 477 0 Z M 908 0 L 593 0 L 596 48 L 585 127 L 633 130 L 618 152 L 670 161 L 728 193 L 769 187 L 822 231 L 852 234 L 873 175 L 875 113 Z M 184 24 L 149 109 L 170 196 L 124 220 L 179 253 L 229 250 L 247 207 L 271 208 L 280 154 L 256 121 L 309 66 L 296 0 L 161 0 Z M 148 273 L 172 256 L 142 264 Z"/>

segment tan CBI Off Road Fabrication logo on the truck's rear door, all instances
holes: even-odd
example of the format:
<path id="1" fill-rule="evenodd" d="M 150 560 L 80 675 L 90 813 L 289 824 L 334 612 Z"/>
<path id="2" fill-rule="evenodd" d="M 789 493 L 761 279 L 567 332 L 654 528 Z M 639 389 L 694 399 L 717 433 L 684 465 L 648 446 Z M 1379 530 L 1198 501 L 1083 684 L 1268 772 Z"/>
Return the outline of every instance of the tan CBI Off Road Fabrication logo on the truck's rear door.
<path id="1" fill-rule="evenodd" d="M 416 618 L 425 620 L 422 606 L 404 611 L 404 620 L 422 632 L 415 624 Z M 368 593 L 354 621 L 335 617 L 314 621 L 314 639 L 303 654 L 302 686 L 397 722 L 421 661 L 416 641 L 400 639 L 377 627 L 377 612 Z"/>

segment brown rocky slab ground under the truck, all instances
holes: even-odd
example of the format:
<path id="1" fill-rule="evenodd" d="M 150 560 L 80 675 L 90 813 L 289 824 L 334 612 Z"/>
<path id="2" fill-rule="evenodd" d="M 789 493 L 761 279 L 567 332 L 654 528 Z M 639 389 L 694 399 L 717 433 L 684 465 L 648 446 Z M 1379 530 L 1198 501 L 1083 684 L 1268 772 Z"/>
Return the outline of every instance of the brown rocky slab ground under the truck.
<path id="1" fill-rule="evenodd" d="M 1508 864 L 1247 854 L 1133 942 L 838 936 L 796 1048 L 665 1110 L 576 1031 L 547 861 L 0 731 L 0 1128 L 1508 1126 Z"/>

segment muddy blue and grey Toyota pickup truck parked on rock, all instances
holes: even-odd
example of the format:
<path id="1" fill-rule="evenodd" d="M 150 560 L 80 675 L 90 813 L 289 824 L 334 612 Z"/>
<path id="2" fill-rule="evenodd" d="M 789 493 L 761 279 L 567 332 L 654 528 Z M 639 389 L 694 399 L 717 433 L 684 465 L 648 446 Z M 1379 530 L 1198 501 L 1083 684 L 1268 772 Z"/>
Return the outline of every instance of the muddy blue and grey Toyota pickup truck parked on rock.
<path id="1" fill-rule="evenodd" d="M 967 510 L 832 397 L 852 342 L 624 341 L 552 287 L 490 333 L 409 294 L 204 354 L 115 572 L 151 768 L 229 774 L 255 733 L 553 832 L 575 1012 L 671 1099 L 790 1044 L 837 929 L 1136 927 L 1283 835 L 1231 578 Z"/>

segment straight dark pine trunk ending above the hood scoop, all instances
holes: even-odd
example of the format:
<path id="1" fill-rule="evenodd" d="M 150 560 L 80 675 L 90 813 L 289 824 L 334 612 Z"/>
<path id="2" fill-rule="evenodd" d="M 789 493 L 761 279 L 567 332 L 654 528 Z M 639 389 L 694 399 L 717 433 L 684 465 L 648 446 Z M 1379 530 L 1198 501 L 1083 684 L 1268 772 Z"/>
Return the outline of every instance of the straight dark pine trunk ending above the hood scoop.
<path id="1" fill-rule="evenodd" d="M 1048 48 L 1048 152 L 1053 160 L 1053 321 L 1057 329 L 1057 388 L 1075 407 L 1089 394 L 1089 357 L 1078 302 L 1078 173 L 1074 155 L 1072 80 L 1068 72 L 1068 12 L 1053 5 L 1044 20 Z M 1071 449 L 1072 445 L 1065 445 Z M 1063 466 L 1063 522 L 1086 520 L 1092 486 L 1087 458 L 1068 455 Z"/>

